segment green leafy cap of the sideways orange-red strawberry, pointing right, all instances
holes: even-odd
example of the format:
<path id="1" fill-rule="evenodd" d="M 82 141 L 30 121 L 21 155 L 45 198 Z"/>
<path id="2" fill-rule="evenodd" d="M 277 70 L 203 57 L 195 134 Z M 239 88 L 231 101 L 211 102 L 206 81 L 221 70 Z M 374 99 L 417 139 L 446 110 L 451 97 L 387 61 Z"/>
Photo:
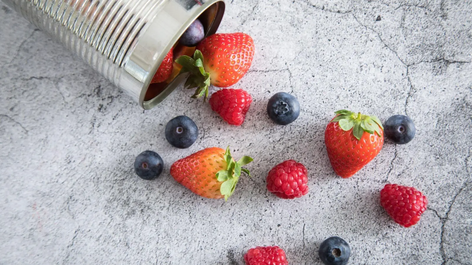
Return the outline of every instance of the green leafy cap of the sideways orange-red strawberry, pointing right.
<path id="1" fill-rule="evenodd" d="M 244 156 L 235 162 L 229 151 L 229 146 L 223 157 L 226 160 L 227 169 L 220 170 L 216 174 L 216 178 L 219 182 L 223 182 L 221 183 L 219 191 L 221 192 L 221 195 L 225 196 L 225 201 L 228 201 L 229 196 L 231 196 L 236 189 L 236 184 L 239 180 L 239 176 L 241 176 L 241 172 L 251 176 L 249 170 L 242 168 L 242 166 L 251 163 L 253 158 Z"/>

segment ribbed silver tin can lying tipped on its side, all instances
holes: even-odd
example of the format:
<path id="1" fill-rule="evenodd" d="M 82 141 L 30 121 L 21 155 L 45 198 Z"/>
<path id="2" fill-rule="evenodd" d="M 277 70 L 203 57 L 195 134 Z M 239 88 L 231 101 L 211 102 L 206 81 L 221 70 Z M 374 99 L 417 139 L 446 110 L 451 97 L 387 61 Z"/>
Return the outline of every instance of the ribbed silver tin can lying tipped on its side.
<path id="1" fill-rule="evenodd" d="M 206 35 L 218 29 L 223 0 L 3 0 L 135 99 L 159 104 L 186 77 L 159 87 L 152 77 L 168 51 L 199 18 Z"/>

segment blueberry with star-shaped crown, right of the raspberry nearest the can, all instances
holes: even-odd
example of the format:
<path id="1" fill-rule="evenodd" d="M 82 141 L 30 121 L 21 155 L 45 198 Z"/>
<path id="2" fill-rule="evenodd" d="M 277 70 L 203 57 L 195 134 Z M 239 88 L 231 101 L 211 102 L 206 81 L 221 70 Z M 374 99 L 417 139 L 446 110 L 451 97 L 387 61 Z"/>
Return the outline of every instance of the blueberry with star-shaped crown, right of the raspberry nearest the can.
<path id="1" fill-rule="evenodd" d="M 289 93 L 278 92 L 269 99 L 267 114 L 276 124 L 287 125 L 300 115 L 300 104 Z"/>

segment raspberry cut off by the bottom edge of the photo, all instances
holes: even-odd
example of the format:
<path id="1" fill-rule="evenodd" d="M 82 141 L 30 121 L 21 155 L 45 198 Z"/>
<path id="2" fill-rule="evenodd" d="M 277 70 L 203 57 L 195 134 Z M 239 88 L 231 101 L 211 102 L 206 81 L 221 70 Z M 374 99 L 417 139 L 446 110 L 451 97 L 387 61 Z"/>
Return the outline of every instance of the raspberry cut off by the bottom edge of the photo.
<path id="1" fill-rule="evenodd" d="M 288 265 L 284 250 L 275 247 L 251 248 L 244 254 L 246 265 Z"/>

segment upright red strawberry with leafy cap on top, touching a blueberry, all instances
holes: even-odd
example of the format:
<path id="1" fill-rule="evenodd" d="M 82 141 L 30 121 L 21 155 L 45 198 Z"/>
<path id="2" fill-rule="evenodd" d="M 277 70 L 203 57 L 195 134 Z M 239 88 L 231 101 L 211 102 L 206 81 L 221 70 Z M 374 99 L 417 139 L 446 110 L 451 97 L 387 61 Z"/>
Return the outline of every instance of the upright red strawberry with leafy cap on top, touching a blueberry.
<path id="1" fill-rule="evenodd" d="M 377 156 L 383 127 L 376 116 L 338 110 L 325 131 L 329 161 L 337 175 L 348 178 Z"/>

